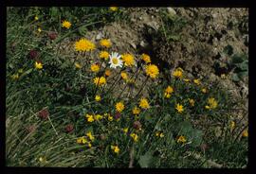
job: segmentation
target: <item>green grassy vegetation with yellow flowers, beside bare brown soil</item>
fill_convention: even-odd
[[[225,89],[188,78],[180,67],[166,80],[148,53],[121,52],[111,38],[95,43],[79,35],[73,28],[93,22],[73,23],[76,16],[64,8],[44,17],[31,13],[21,26],[11,10],[7,165],[247,165],[247,127],[227,114],[236,102]],[[113,7],[101,10],[106,19],[121,15]],[[39,29],[48,21],[59,21],[56,33],[48,33],[47,25]],[[69,47],[61,48],[66,41]]]

